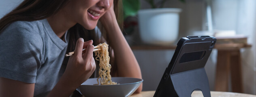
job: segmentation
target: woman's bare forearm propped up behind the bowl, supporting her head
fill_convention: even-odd
[[[137,59],[119,28],[113,9],[109,9],[100,22],[105,27],[109,36],[109,45],[114,50],[115,62],[118,65],[117,76],[142,78]],[[140,93],[141,90],[142,84],[134,93]]]

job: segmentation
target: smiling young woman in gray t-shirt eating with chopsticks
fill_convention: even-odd
[[[105,40],[111,76],[141,78],[118,25],[120,5],[122,0],[24,0],[0,19],[0,97],[68,97],[93,74],[93,44]]]

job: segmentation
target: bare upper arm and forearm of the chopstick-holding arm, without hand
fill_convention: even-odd
[[[30,84],[0,77],[0,97],[33,97],[34,86],[34,83]],[[63,81],[60,81],[48,97],[68,97],[73,91],[75,91],[75,88],[72,89]]]

